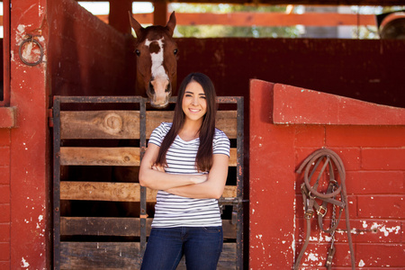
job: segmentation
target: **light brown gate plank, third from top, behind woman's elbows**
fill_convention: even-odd
[[[138,183],[60,182],[60,200],[139,202]],[[147,188],[147,202],[156,202],[157,190]],[[225,198],[236,197],[237,187],[226,185]]]

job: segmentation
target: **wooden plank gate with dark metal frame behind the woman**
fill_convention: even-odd
[[[173,111],[147,111],[146,103],[139,96],[54,97],[56,269],[139,269],[157,191],[128,179],[137,174],[126,172],[122,180],[116,172],[136,172],[152,130],[173,117]],[[218,97],[218,103],[217,127],[231,142],[220,198],[224,248],[218,268],[242,269],[243,97]],[[122,141],[130,146],[122,147]],[[128,205],[136,206],[135,213]],[[184,268],[183,260],[178,269]]]

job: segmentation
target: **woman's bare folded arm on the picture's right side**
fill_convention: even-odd
[[[165,191],[195,199],[219,199],[227,182],[228,165],[229,157],[227,155],[215,154],[213,155],[213,163],[207,181],[200,184],[169,188]]]

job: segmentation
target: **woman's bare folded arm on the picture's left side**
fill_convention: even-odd
[[[153,169],[159,147],[150,143],[139,168],[139,184],[151,189],[166,190],[187,184],[199,184],[207,180],[207,175],[173,175]]]

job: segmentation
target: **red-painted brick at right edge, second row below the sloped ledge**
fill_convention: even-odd
[[[364,148],[362,168],[371,170],[405,170],[405,148]]]

